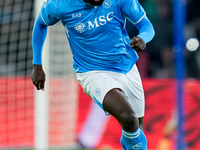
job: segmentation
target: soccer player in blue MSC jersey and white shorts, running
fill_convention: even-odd
[[[129,38],[125,19],[139,34]],[[61,21],[73,54],[78,82],[122,127],[123,150],[147,150],[142,131],[144,92],[136,67],[154,29],[138,0],[47,0],[33,29],[32,81],[44,90],[42,48],[47,27]]]

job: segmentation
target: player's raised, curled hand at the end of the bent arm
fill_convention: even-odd
[[[129,46],[136,51],[143,51],[146,48],[146,43],[142,38],[135,36],[131,39]]]

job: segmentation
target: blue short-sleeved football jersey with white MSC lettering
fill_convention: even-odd
[[[62,22],[75,72],[125,74],[138,60],[125,29],[125,18],[137,24],[146,15],[138,0],[105,0],[101,6],[83,0],[47,0],[40,15],[46,25]]]

